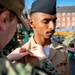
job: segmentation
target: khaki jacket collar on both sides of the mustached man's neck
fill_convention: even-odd
[[[31,41],[31,47],[33,47],[36,44],[36,42],[34,41],[33,36],[30,38],[30,41]],[[63,46],[61,44],[53,41],[53,39],[51,39],[50,41],[51,41],[51,44],[50,44],[50,55],[49,55],[49,58],[53,59],[53,57],[55,56],[57,51],[59,49],[62,49]]]

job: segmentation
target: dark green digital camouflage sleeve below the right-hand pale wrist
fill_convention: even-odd
[[[57,71],[55,70],[55,67],[53,66],[52,62],[45,58],[40,61],[40,67],[44,70],[46,70],[48,73],[53,75],[58,75]]]

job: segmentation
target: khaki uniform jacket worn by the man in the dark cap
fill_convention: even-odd
[[[52,61],[58,74],[71,75],[67,51],[59,43],[56,43],[53,40],[51,40],[51,43],[52,44],[50,45],[49,60]],[[35,43],[33,36],[32,36],[30,38],[30,40],[22,46],[22,48],[26,48],[27,50],[30,50],[31,47],[34,46],[35,44],[36,43]],[[35,57],[30,57],[30,56],[25,56],[22,59],[18,60],[18,62],[21,62],[23,64],[30,63],[32,66],[35,66],[35,65],[40,66],[38,59]]]

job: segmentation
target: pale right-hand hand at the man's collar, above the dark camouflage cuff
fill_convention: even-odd
[[[39,44],[36,44],[35,46],[33,46],[30,52],[32,52],[34,56],[36,56],[39,60],[47,58],[44,53],[43,47]]]

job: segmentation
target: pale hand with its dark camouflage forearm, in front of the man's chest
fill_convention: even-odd
[[[36,45],[30,50],[34,56],[36,56],[39,59],[40,62],[40,68],[47,71],[50,74],[58,75],[57,71],[55,70],[54,65],[52,62],[46,57],[42,46]]]

